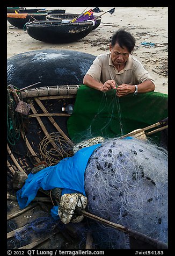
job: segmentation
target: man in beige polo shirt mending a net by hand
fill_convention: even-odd
[[[116,31],[111,39],[110,53],[97,56],[83,84],[103,92],[116,89],[118,97],[154,91],[154,80],[132,55],[134,48],[132,34],[123,29]]]

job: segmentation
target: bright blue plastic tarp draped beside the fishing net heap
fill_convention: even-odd
[[[62,194],[81,193],[84,196],[84,172],[93,151],[101,144],[84,147],[73,157],[61,160],[55,166],[49,166],[38,173],[28,175],[24,186],[17,191],[17,200],[21,209],[25,208],[37,195],[38,189],[50,190],[63,188]],[[55,215],[57,207],[51,211]]]

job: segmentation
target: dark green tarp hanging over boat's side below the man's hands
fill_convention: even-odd
[[[77,91],[74,112],[68,119],[69,136],[75,143],[97,136],[120,137],[168,117],[167,101],[168,95],[162,93],[119,98],[115,90],[102,93],[83,84]],[[155,134],[158,138],[160,132]]]

